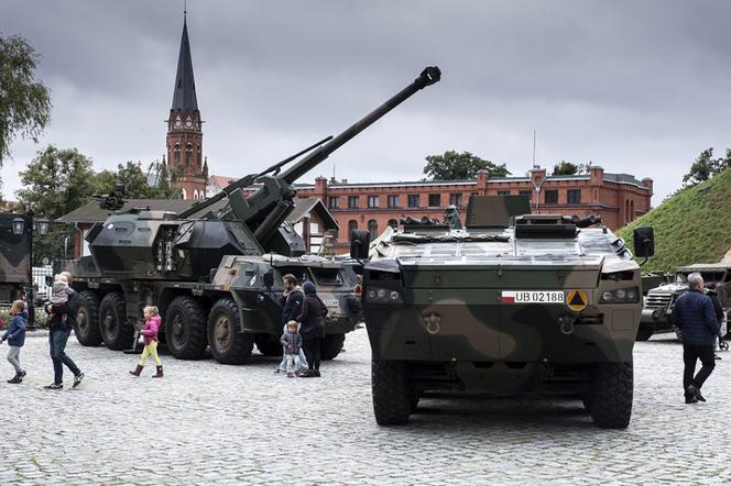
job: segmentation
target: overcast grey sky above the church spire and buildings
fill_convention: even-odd
[[[470,151],[524,175],[533,157],[592,161],[680,186],[700,151],[731,147],[731,2],[188,0],[210,173],[243,176],[337,134],[427,65],[441,82],[337,151],[316,176],[417,180],[424,157]],[[182,0],[0,0],[51,88],[39,145],[17,142],[6,197],[47,143],[95,168],[165,150]],[[334,167],[335,166],[335,167]]]

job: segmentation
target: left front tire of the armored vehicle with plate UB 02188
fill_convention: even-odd
[[[379,426],[403,426],[408,422],[412,394],[408,368],[396,361],[371,360],[373,413]]]

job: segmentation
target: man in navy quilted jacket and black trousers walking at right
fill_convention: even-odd
[[[698,272],[688,275],[688,291],[678,297],[672,319],[683,332],[683,389],[686,404],[706,401],[700,388],[716,367],[713,345],[720,325],[710,297],[703,294],[703,277]],[[702,367],[694,377],[697,360],[700,360]]]

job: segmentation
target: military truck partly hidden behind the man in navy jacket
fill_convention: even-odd
[[[670,323],[670,314],[677,298],[688,290],[688,275],[694,272],[699,272],[707,285],[714,284],[721,306],[725,311],[731,309],[731,264],[698,263],[678,267],[672,283],[647,291],[637,329],[637,341],[647,341],[653,334],[661,332],[676,332]]]

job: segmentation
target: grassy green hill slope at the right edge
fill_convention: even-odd
[[[731,168],[683,189],[619,230],[630,247],[636,227],[653,227],[655,232],[655,256],[643,265],[643,272],[719,262],[731,247]]]

